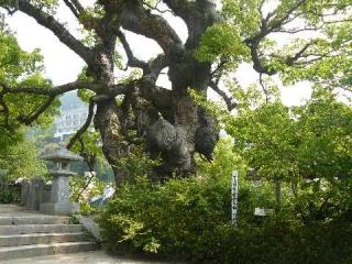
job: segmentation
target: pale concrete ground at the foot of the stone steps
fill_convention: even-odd
[[[68,255],[52,255],[11,261],[0,261],[0,264],[166,264],[162,262],[133,261],[107,255],[103,251],[84,252]]]

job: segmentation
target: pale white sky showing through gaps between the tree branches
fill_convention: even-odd
[[[61,22],[65,22],[69,26],[73,34],[79,35],[79,26],[66,7],[61,7],[57,15]],[[187,28],[185,23],[169,13],[165,13],[165,16],[182,40],[186,41]],[[33,19],[20,12],[9,16],[7,22],[11,30],[16,33],[16,37],[23,50],[33,51],[36,47],[41,50],[44,56],[45,74],[53,80],[54,85],[76,80],[78,73],[84,66],[84,62],[62,44],[51,31],[38,25]],[[135,55],[144,61],[155,57],[162,52],[154,41],[133,33],[129,33],[127,36]],[[258,77],[251,65],[242,65],[235,73],[235,76],[243,87],[248,87],[256,81]],[[169,87],[166,75],[160,78],[158,85]],[[310,97],[310,92],[311,89],[307,82],[298,84],[295,87],[282,88],[283,101],[287,106],[300,105],[305,99]]]

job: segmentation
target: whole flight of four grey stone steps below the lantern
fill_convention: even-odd
[[[69,217],[0,213],[0,262],[20,257],[68,254],[98,249]]]

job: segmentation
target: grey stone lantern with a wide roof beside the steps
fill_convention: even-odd
[[[46,215],[72,213],[69,176],[74,176],[75,173],[70,172],[70,163],[82,161],[82,158],[63,145],[43,155],[42,158],[53,162],[54,166],[50,170],[53,176],[51,202],[42,204],[40,211]]]

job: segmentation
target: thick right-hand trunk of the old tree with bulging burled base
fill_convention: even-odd
[[[161,151],[164,164],[161,173],[191,174],[195,172],[196,152],[212,158],[219,131],[216,122],[189,97],[188,88],[206,95],[211,77],[211,64],[195,59],[201,36],[216,21],[216,7],[210,1],[197,2],[187,21],[189,37],[183,48],[174,47],[170,54],[168,77],[172,81],[174,114],[158,121],[150,130],[148,143]],[[167,123],[166,123],[167,122]],[[164,135],[164,139],[163,139]],[[156,151],[157,153],[157,151]]]

